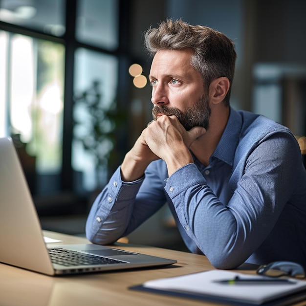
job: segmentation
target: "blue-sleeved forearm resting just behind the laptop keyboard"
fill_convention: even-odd
[[[151,163],[146,175],[130,183],[122,181],[120,167],[116,170],[91,207],[86,223],[88,240],[112,243],[129,235],[165,204],[160,175],[167,177],[166,169],[156,167],[156,163]]]

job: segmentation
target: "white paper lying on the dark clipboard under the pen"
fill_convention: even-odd
[[[144,283],[144,287],[160,290],[178,290],[187,293],[200,293],[216,297],[230,298],[252,304],[280,298],[306,288],[306,281],[292,279],[295,284],[219,284],[220,280],[232,280],[236,276],[243,279],[264,278],[258,275],[246,275],[227,270],[211,270]]]

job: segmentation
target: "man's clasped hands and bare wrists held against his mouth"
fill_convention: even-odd
[[[176,116],[158,116],[142,131],[127,153],[121,165],[122,179],[136,180],[153,160],[159,158],[166,162],[170,176],[178,168],[193,163],[189,148],[204,133],[205,129],[201,127],[186,131]]]

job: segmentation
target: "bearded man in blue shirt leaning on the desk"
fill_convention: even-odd
[[[306,266],[306,172],[292,133],[229,106],[236,52],[224,34],[167,20],[145,35],[153,121],[87,219],[109,244],[167,201],[190,251],[216,268]]]

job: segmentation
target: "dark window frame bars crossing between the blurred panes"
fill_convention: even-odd
[[[110,54],[118,59],[118,87],[116,100],[118,106],[128,108],[123,101],[127,101],[130,95],[128,80],[123,75],[127,75],[128,67],[132,62],[132,56],[129,49],[130,38],[130,8],[131,0],[118,0],[118,48],[108,50],[102,47],[85,44],[76,40],[76,14],[77,0],[66,0],[66,31],[61,37],[45,34],[38,30],[30,29],[16,24],[0,21],[0,30],[29,36],[36,39],[42,39],[65,46],[65,68],[64,68],[64,110],[63,110],[63,138],[62,138],[62,167],[60,191],[73,191],[74,171],[72,169],[72,140],[73,140],[73,94],[74,94],[74,54],[76,49],[85,48],[99,53]]]

